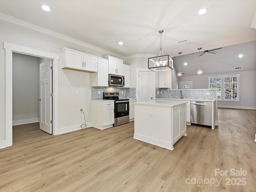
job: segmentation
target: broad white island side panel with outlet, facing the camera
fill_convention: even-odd
[[[172,150],[171,107],[135,104],[134,139]]]

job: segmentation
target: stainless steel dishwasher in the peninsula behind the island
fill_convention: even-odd
[[[212,127],[212,102],[191,101],[190,118],[191,124]]]

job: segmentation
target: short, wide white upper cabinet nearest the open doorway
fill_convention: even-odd
[[[61,51],[62,66],[86,72],[98,71],[98,57],[80,51],[63,48]]]

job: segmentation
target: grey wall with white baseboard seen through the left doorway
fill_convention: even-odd
[[[12,61],[13,125],[38,122],[39,58],[14,53]]]

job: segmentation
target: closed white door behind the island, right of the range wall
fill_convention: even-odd
[[[153,73],[154,72],[139,72],[139,101],[149,101],[154,99]]]

